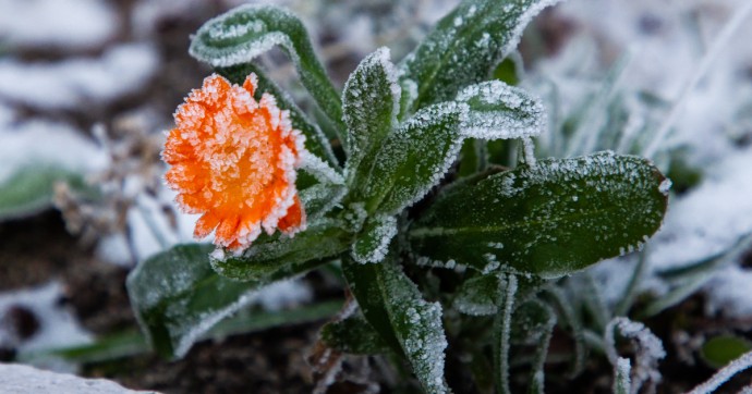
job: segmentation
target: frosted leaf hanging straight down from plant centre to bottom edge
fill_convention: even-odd
[[[423,300],[392,258],[378,264],[345,258],[342,272],[368,323],[391,348],[405,356],[423,390],[448,393],[444,380],[447,340],[440,305]]]

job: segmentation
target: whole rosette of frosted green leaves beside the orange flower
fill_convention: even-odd
[[[639,248],[667,205],[667,181],[639,157],[485,160],[488,144],[529,146],[544,128],[536,98],[489,76],[553,2],[462,1],[401,62],[386,48],[366,57],[341,93],[292,13],[244,5],[207,22],[191,54],[234,83],[256,73],[257,93],[306,135],[308,229],[262,236],[238,257],[181,245],[142,262],[128,284],[151,345],[181,357],[264,286],[336,261],[359,311],[327,324],[324,343],[402,359],[427,393],[450,391],[445,364],[458,352],[472,354],[458,362],[475,389],[507,392],[510,347],[535,343],[530,384],[542,391],[556,318],[538,290]],[[253,63],[277,46],[328,121],[314,123]]]

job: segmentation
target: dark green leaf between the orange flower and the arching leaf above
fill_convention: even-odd
[[[325,160],[329,165],[338,168],[337,158],[331,151],[331,145],[328,139],[336,139],[336,135],[325,136],[320,127],[311,122],[308,116],[301,110],[292,100],[290,95],[282,90],[277,84],[269,79],[266,73],[254,63],[236,64],[228,67],[217,67],[217,73],[230,81],[233,84],[242,85],[245,77],[251,73],[256,74],[258,86],[256,87],[255,98],[262,99],[265,93],[270,94],[277,101],[277,107],[287,110],[290,113],[290,122],[292,127],[300,130],[305,135],[305,149],[318,158]],[[327,139],[328,138],[328,139]]]

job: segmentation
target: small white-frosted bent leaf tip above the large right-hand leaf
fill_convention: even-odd
[[[462,135],[480,139],[531,137],[546,127],[546,111],[537,98],[500,81],[462,89],[456,98],[470,107]]]

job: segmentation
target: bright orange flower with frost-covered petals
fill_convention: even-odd
[[[294,234],[305,227],[295,189],[305,137],[293,130],[274,96],[253,98],[257,79],[243,86],[214,74],[178,107],[162,160],[167,184],[187,213],[203,213],[194,236],[216,229],[215,244],[246,248],[262,232]]]

